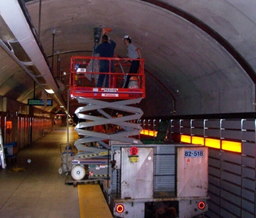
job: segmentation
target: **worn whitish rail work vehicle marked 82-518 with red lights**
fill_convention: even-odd
[[[112,145],[107,200],[114,217],[192,218],[208,210],[208,148]]]

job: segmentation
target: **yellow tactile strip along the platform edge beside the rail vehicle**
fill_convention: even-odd
[[[113,218],[98,184],[78,185],[80,218]]]

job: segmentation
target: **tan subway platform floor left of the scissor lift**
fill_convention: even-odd
[[[69,143],[77,138],[69,127]],[[67,127],[21,149],[16,162],[6,159],[5,169],[0,166],[0,218],[80,218],[78,189],[58,173],[62,143],[67,144]]]

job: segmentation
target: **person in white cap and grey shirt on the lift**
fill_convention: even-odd
[[[127,57],[133,58],[133,59],[141,59],[141,51],[139,48],[137,48],[135,45],[132,44],[132,39],[130,36],[126,35],[123,38],[124,45],[127,46]],[[127,62],[128,60],[125,60],[124,62]],[[129,73],[137,73],[138,69],[140,67],[140,60],[132,60],[132,64],[129,70]],[[130,75],[127,75],[124,88],[128,88]]]

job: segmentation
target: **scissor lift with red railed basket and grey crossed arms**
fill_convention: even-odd
[[[109,72],[99,72],[101,60],[109,62]],[[108,165],[107,156],[111,146],[106,141],[142,144],[139,139],[132,137],[139,135],[142,127],[129,121],[140,119],[143,111],[129,105],[140,103],[145,98],[145,60],[136,59],[140,60],[138,72],[128,74],[132,60],[135,59],[97,56],[71,57],[70,96],[86,105],[75,111],[78,118],[86,120],[86,122],[78,123],[75,127],[80,135],[75,142],[79,153],[72,162],[71,175],[75,180],[84,178],[85,165],[102,165],[104,163]],[[105,75],[105,80],[107,76],[109,78],[108,84],[104,81],[103,87],[97,87],[100,75]],[[128,78],[130,78],[128,88],[124,88]],[[91,112],[94,110],[99,115],[92,115],[95,114]],[[117,112],[113,115],[113,111]],[[117,127],[118,131],[105,133],[93,131],[94,126],[106,124]],[[95,146],[95,144],[99,146]],[[93,177],[93,173],[90,172],[89,176]]]

